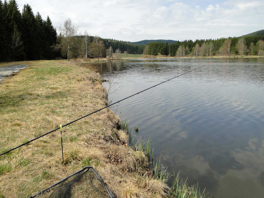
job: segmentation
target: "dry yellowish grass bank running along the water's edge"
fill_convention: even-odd
[[[30,66],[0,83],[1,153],[108,103],[99,74],[78,66],[82,62],[0,67],[14,64]],[[125,145],[128,137],[116,129],[118,122],[104,109],[62,128],[64,163],[60,131],[1,156],[0,197],[31,196],[86,165],[94,166],[118,197],[164,196],[166,185],[147,174],[144,153]]]

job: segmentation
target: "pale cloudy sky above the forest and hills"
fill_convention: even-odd
[[[264,0],[17,0],[50,17],[59,32],[70,18],[78,34],[123,41],[196,40],[241,36],[264,29]]]

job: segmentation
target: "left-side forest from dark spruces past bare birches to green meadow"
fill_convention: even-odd
[[[144,45],[102,39],[87,33],[77,35],[77,28],[71,21],[68,19],[65,22],[68,24],[56,30],[49,16],[43,20],[39,12],[34,15],[29,4],[24,5],[20,12],[16,0],[0,0],[0,61],[50,60],[68,58],[68,54],[70,58],[83,58],[86,48],[88,57],[106,57],[110,46],[110,52],[143,53]],[[74,28],[70,37],[65,32],[65,25]],[[57,31],[60,33],[57,34]]]

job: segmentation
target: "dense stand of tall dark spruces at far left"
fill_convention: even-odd
[[[18,10],[15,0],[0,0],[0,61],[53,59],[57,32],[50,18],[34,15],[30,5]]]

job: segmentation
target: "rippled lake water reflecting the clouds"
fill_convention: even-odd
[[[117,101],[209,62],[113,111],[138,126],[136,138],[152,140],[169,171],[212,197],[263,197],[263,58],[119,60],[99,71],[114,77],[109,101]]]

